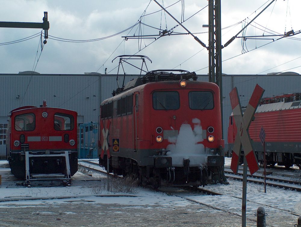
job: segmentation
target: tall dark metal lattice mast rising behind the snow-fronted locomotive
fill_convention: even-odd
[[[209,0],[209,82],[219,86],[222,137],[223,136],[223,94],[222,94],[222,35],[221,35],[221,0]]]

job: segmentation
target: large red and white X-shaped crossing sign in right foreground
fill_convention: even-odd
[[[250,98],[244,115],[241,111],[237,88],[235,87],[230,92],[231,107],[233,110],[235,124],[237,126],[237,134],[235,136],[231,159],[231,169],[234,173],[237,173],[238,170],[238,163],[240,159],[240,151],[242,146],[244,147],[244,155],[246,156],[250,173],[253,174],[259,169],[258,160],[252,148],[248,129],[264,91],[264,89],[262,89],[258,84],[256,84],[256,87],[253,91],[253,94]]]

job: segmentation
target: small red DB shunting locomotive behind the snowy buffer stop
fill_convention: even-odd
[[[43,105],[11,111],[7,155],[11,173],[19,179],[62,179],[77,172],[77,113]]]

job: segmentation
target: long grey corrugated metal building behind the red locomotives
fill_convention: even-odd
[[[125,83],[139,75],[126,75]],[[48,107],[75,110],[78,124],[98,122],[102,100],[111,97],[117,88],[117,75],[100,73],[39,74],[26,71],[16,74],[0,74],[0,156],[6,155],[6,129],[8,115],[17,107],[39,106],[45,99]],[[208,81],[207,75],[198,80]],[[123,75],[118,77],[122,86]],[[231,114],[230,91],[237,87],[242,106],[246,106],[256,84],[265,93],[263,97],[301,92],[301,76],[298,73],[271,73],[267,75],[225,75],[222,78],[223,135],[227,144],[228,119]],[[227,150],[227,146],[225,146]]]

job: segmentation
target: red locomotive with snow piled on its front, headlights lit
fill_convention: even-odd
[[[175,73],[178,72],[178,73]],[[223,182],[219,87],[194,72],[155,70],[101,103],[99,163],[142,184]]]

